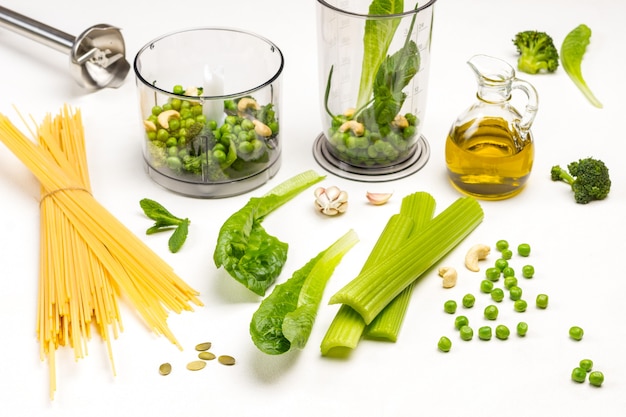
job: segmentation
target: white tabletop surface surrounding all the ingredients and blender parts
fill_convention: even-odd
[[[417,286],[396,344],[363,341],[346,360],[322,358],[319,343],[337,306],[322,305],[313,334],[303,351],[266,356],[248,336],[258,299],[217,271],[211,256],[224,219],[250,196],[260,195],[303,169],[320,168],[311,147],[320,131],[316,68],[316,2],[187,1],[73,2],[70,0],[5,1],[5,7],[79,34],[96,23],[123,29],[129,59],[148,40],[165,32],[200,25],[232,26],[260,33],[285,54],[281,120],[283,166],[271,183],[247,195],[224,200],[190,199],[155,185],[143,172],[138,110],[131,73],[117,90],[85,94],[67,73],[67,61],[56,51],[0,30],[0,111],[18,122],[12,107],[41,120],[63,103],[80,107],[87,131],[90,172],[98,200],[177,272],[201,292],[205,307],[173,315],[170,325],[186,348],[178,351],[154,336],[124,305],[125,330],[114,341],[117,375],[110,370],[98,337],[87,358],[74,362],[71,350],[57,354],[58,390],[48,398],[48,364],[40,362],[35,337],[38,268],[38,185],[4,147],[0,147],[0,404],[12,416],[506,416],[605,415],[623,413],[626,400],[626,327],[622,325],[626,281],[621,276],[625,247],[626,164],[623,137],[626,84],[623,54],[626,3],[614,0],[502,1],[441,0],[436,4],[429,107],[424,134],[431,159],[419,173],[392,183],[365,184],[328,175],[323,184],[349,191],[349,211],[322,218],[305,192],[265,221],[267,230],[290,244],[280,280],[302,266],[340,234],[354,228],[361,242],[344,259],[328,284],[327,299],[360,269],[387,218],[401,197],[428,191],[438,210],[458,197],[448,184],[443,159],[448,127],[474,97],[473,75],[465,64],[476,53],[515,62],[511,38],[520,30],[552,34],[560,45],[580,23],[592,30],[583,73],[604,109],[593,108],[559,69],[554,75],[521,77],[539,92],[533,126],[536,162],[526,190],[501,202],[482,203],[485,220],[445,260],[459,267],[459,284],[441,288],[432,272]],[[603,159],[611,169],[613,188],[604,202],[577,205],[566,186],[549,178],[553,164],[586,156]],[[365,192],[395,191],[385,206],[366,203]],[[192,220],[189,240],[175,255],[167,252],[167,235],[145,236],[149,221],[139,200],[150,197]],[[290,221],[288,221],[290,219]],[[298,227],[294,227],[297,225]],[[498,239],[531,243],[529,262],[537,273],[524,281],[530,307],[514,313],[501,307],[501,322],[511,328],[520,319],[529,334],[508,341],[462,342],[452,329],[453,317],[443,302],[478,293],[479,275],[461,268],[465,250],[476,242]],[[492,260],[495,256],[492,256]],[[518,269],[523,261],[516,259]],[[545,311],[534,307],[534,294],[550,295]],[[476,328],[481,309],[467,311]],[[571,325],[585,338],[569,340]],[[453,350],[436,350],[441,335]],[[184,366],[193,346],[212,341],[213,351],[237,358],[234,367],[210,363],[201,372]],[[601,389],[570,381],[571,369],[584,357],[595,361],[606,381]],[[169,361],[174,371],[158,374]]]

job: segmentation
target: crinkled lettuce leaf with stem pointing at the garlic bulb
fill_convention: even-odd
[[[261,222],[311,185],[325,178],[309,170],[253,197],[222,225],[213,253],[215,266],[258,295],[274,283],[287,260],[288,245],[268,234]]]

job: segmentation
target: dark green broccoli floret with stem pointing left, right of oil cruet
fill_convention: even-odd
[[[572,162],[567,171],[558,165],[550,172],[552,181],[563,181],[574,191],[574,200],[579,204],[587,204],[593,200],[603,200],[611,190],[609,169],[604,162],[585,158]]]

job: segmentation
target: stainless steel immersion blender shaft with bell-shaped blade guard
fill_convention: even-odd
[[[88,89],[117,88],[130,69],[124,38],[111,25],[91,26],[79,36],[72,36],[0,6],[0,27],[69,55],[72,76]]]

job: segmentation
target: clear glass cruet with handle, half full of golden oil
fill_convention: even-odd
[[[478,81],[477,102],[454,122],[445,146],[450,181],[459,191],[484,200],[503,200],[522,191],[534,160],[530,126],[537,92],[498,58],[468,61]],[[513,90],[527,96],[524,114],[510,103]]]

